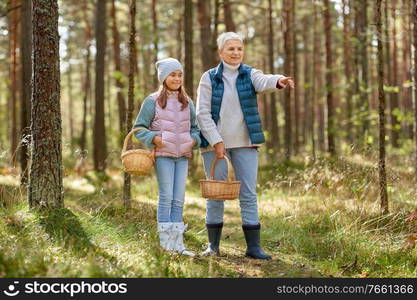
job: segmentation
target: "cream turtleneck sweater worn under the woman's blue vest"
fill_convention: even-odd
[[[217,125],[211,118],[211,81],[207,72],[203,74],[197,89],[197,120],[203,136],[211,146],[224,142],[227,149],[250,147],[252,145],[248,129],[240,107],[236,89],[239,65],[232,66],[223,62],[224,94]],[[252,84],[258,93],[277,90],[276,85],[282,75],[265,75],[252,69]]]

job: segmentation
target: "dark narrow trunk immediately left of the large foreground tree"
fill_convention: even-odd
[[[30,98],[32,96],[32,2],[22,2],[21,13],[21,61],[22,61],[22,97],[20,103],[21,148],[20,168],[21,183],[28,182],[28,149],[30,145]]]

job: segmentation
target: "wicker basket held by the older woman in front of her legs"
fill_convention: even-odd
[[[200,188],[203,198],[213,200],[234,200],[239,197],[240,192],[240,181],[234,181],[230,170],[232,165],[229,159],[224,157],[228,163],[228,175],[227,181],[214,180],[214,170],[217,165],[218,159],[216,158],[211,164],[210,179],[201,179]]]

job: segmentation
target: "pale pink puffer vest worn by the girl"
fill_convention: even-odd
[[[159,92],[150,96],[156,102]],[[191,157],[194,140],[190,135],[190,106],[184,110],[181,110],[181,106],[178,92],[169,92],[165,109],[158,102],[155,103],[155,117],[150,129],[158,131],[162,137],[162,147],[156,149],[156,156]]]

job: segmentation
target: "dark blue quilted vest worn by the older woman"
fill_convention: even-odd
[[[236,79],[236,88],[239,95],[240,107],[242,108],[243,118],[245,119],[248,129],[249,138],[252,144],[262,144],[265,142],[265,136],[262,130],[262,122],[259,116],[258,103],[256,101],[256,91],[251,80],[252,68],[241,64],[239,75]],[[209,70],[211,80],[211,117],[217,124],[220,117],[220,108],[222,105],[224,83],[223,83],[223,63]],[[208,141],[201,134],[201,147],[209,146]]]

